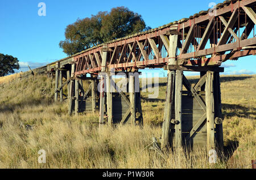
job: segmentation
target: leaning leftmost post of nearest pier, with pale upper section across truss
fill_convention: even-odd
[[[177,29],[172,27],[171,30]],[[176,50],[177,50],[177,38],[178,35],[170,35],[170,46],[169,46],[169,62],[168,65],[176,64]],[[171,116],[172,116],[172,105],[174,101],[174,82],[175,82],[175,71],[168,70],[167,78],[167,92],[166,92],[166,105],[164,106],[164,122],[163,122],[163,134],[161,148],[166,150],[170,147],[170,130],[171,130]]]

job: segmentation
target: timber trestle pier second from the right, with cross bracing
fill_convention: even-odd
[[[109,125],[119,123],[143,125],[139,76],[134,75],[133,72],[122,72],[122,74],[126,77],[122,87],[112,79],[115,75],[113,72],[100,75],[100,125],[106,122]]]

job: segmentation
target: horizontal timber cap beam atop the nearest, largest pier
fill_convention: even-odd
[[[224,72],[224,67],[218,66],[176,66],[167,65],[164,66],[164,70],[182,70],[182,71],[214,71],[214,72]]]

